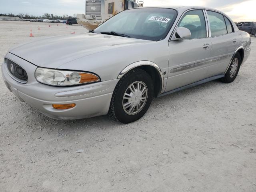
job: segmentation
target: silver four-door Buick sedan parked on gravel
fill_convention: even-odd
[[[215,79],[233,82],[250,44],[250,35],[218,10],[134,8],[84,34],[10,49],[2,76],[21,101],[51,118],[110,114],[129,123],[153,97]]]

